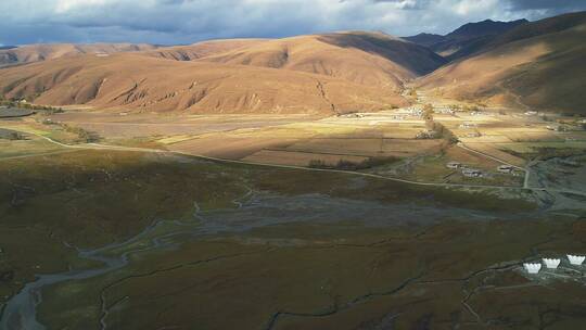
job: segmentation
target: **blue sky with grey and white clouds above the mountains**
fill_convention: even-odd
[[[411,36],[581,10],[586,0],[0,0],[0,46],[179,45],[335,30]]]

